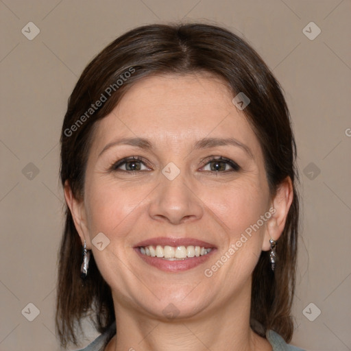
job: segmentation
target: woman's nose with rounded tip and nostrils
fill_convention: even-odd
[[[180,224],[185,221],[197,221],[204,213],[204,204],[195,193],[191,184],[178,175],[173,180],[160,175],[160,184],[156,187],[152,202],[149,204],[149,216],[157,221]]]

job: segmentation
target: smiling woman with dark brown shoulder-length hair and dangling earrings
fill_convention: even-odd
[[[300,350],[295,142],[247,43],[198,23],[131,30],[82,73],[61,141],[62,346],[90,316],[84,350]]]

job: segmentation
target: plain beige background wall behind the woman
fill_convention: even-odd
[[[3,0],[0,10],[1,351],[59,350],[58,140],[77,77],[126,30],[178,19],[215,21],[240,34],[285,89],[304,200],[292,343],[351,350],[350,0]],[[314,40],[302,31],[311,21],[322,30]],[[40,29],[33,40],[21,32],[29,22]],[[315,29],[306,28],[310,36]],[[40,311],[33,322],[29,303]]]

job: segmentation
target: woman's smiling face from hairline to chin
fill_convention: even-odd
[[[147,77],[97,123],[80,234],[117,308],[191,317],[250,300],[274,210],[261,147],[232,98],[215,77]]]

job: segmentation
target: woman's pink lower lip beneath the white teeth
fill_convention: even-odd
[[[198,265],[206,262],[216,249],[213,248],[210,252],[208,252],[208,254],[204,256],[189,257],[185,258],[184,260],[176,261],[169,261],[164,258],[144,255],[140,252],[140,249],[138,247],[134,247],[134,250],[143,259],[144,262],[160,269],[161,271],[187,271],[188,269],[197,267]]]

